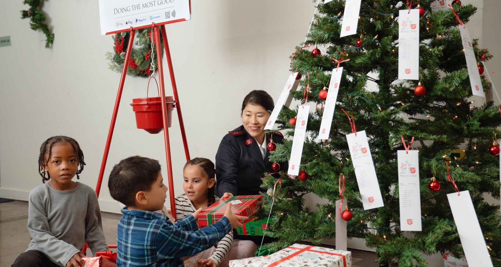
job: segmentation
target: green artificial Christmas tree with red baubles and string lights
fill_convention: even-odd
[[[310,138],[305,140],[300,166],[309,177],[300,181],[283,176],[272,210],[272,215],[280,219],[267,232],[280,240],[263,248],[274,252],[297,240],[319,244],[325,238],[335,237],[335,220],[330,214],[339,208],[332,203],[340,199],[338,177],[343,173],[345,196],[354,214],[348,222],[348,237],[365,238],[368,247],[377,248],[381,264],[398,261],[399,266],[427,266],[425,254],[450,251],[461,256],[463,251],[446,196],[454,192],[446,176],[448,160],[450,175],[459,190],[469,190],[471,194],[494,266],[501,266],[499,205],[484,200],[486,194],[499,198],[499,159],[489,155],[488,148],[493,133],[499,136],[496,127],[501,125],[501,116],[492,102],[475,107],[468,100],[471,89],[455,16],[450,9],[431,13],[431,0],[420,3],[425,15],[420,18],[419,73],[426,93],[418,97],[413,92],[418,81],[397,80],[398,12],[406,9],[405,1],[362,0],[357,34],[340,38],[344,2],[334,0],[318,5],[319,15],[315,16],[305,45],[319,46],[321,55],[313,57],[312,47],[296,47],[291,71],[297,70],[303,78],[300,89],[291,94],[303,104],[304,89],[309,83],[306,105],[312,106],[307,126]],[[453,8],[465,24],[476,11],[471,5],[455,4]],[[360,36],[362,45],[357,47]],[[485,60],[491,58],[486,50],[477,49],[476,40],[473,42],[475,53],[485,54]],[[341,64],[344,70],[329,139],[310,141],[318,135],[322,118],[318,94],[328,87],[337,66],[332,58],[339,58],[345,51],[344,59],[350,61]],[[485,78],[482,84],[487,88]],[[369,90],[370,87],[376,89]],[[362,207],[346,140],[346,134],[352,131],[341,109],[353,113],[357,131],[367,132],[384,207]],[[289,137],[294,135],[289,120],[296,114],[297,108],[284,107],[277,120],[279,129]],[[408,140],[415,137],[411,149],[419,150],[422,231],[403,232],[399,227],[397,150],[404,149],[401,135]],[[291,139],[278,145],[270,161],[289,160]],[[464,150],[464,157],[450,158],[458,149]],[[428,188],[433,176],[441,184],[436,192]],[[269,176],[262,187],[273,188],[275,182],[277,178]],[[316,210],[303,206],[303,197],[309,192],[330,203],[318,204]],[[272,197],[265,198],[268,216]]]

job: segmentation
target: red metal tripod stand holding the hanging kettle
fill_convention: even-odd
[[[174,78],[174,70],[172,68],[172,60],[170,58],[170,50],[169,50],[169,44],[167,42],[167,34],[165,33],[165,26],[164,25],[155,26],[155,23],[153,23],[152,27],[153,27],[153,34],[154,34],[156,51],[157,51],[157,55],[159,55],[157,62],[158,62],[158,77],[159,77],[159,83],[160,83],[160,99],[161,100],[165,99],[165,86],[164,86],[164,79],[163,79],[163,67],[162,67],[162,57],[161,57],[162,54],[160,53],[160,51],[161,51],[160,31],[161,31],[163,44],[165,47],[165,55],[167,57],[167,65],[168,65],[169,73],[170,73],[170,80],[172,83],[172,91],[174,94],[174,105],[177,109],[177,114],[178,114],[178,118],[179,118],[179,127],[181,128],[181,136],[182,136],[183,145],[184,145],[184,152],[186,154],[186,161],[188,161],[190,159],[189,151],[188,151],[188,144],[186,141],[186,133],[184,131],[183,117],[181,114],[181,106],[179,104],[179,96],[177,94],[176,80]],[[142,27],[142,28],[146,28],[146,27]],[[140,28],[137,28],[137,29],[140,29]],[[99,177],[98,177],[97,185],[96,185],[96,194],[98,197],[99,197],[99,191],[101,189],[101,184],[103,182],[103,175],[104,175],[104,169],[106,167],[106,161],[108,160],[108,152],[110,151],[110,144],[111,144],[111,138],[113,136],[113,130],[115,129],[115,122],[117,119],[118,107],[120,105],[120,99],[122,97],[125,76],[127,74],[127,67],[128,67],[127,63],[129,62],[129,59],[130,59],[130,54],[132,51],[132,45],[134,43],[135,33],[136,33],[136,29],[133,29],[131,27],[129,43],[127,46],[127,52],[125,54],[124,67],[122,70],[122,76],[120,78],[120,84],[118,86],[117,98],[115,100],[115,107],[113,108],[113,116],[111,118],[110,129],[108,131],[108,138],[106,140],[106,147],[104,149],[103,161],[101,162],[101,170],[99,171]],[[168,122],[167,122],[167,107],[165,104],[161,105],[161,106],[162,106],[162,117],[163,117],[163,133],[164,133],[164,141],[165,141],[165,155],[166,155],[166,160],[167,160],[167,178],[168,178],[168,185],[169,185],[170,208],[172,210],[172,215],[175,218],[176,217],[176,210],[175,210],[175,202],[174,202],[174,182],[172,179],[172,161],[171,161],[171,156],[170,156],[170,141],[169,141],[169,127],[168,127]],[[110,248],[117,247],[116,244],[109,244],[108,246]],[[87,248],[87,245],[84,246],[84,248],[83,248],[84,253],[85,253],[86,248]]]

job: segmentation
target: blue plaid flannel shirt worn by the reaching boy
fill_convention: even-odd
[[[175,224],[163,214],[122,209],[117,229],[117,267],[184,266],[183,256],[201,252],[231,230],[228,218],[198,229],[192,215]]]

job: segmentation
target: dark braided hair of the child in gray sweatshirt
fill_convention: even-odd
[[[45,183],[45,181],[48,181],[51,179],[51,174],[48,172],[45,172],[44,168],[49,164],[49,160],[51,159],[52,156],[52,146],[55,144],[59,143],[70,143],[71,146],[73,146],[73,151],[75,151],[75,156],[77,156],[77,162],[80,165],[80,170],[77,168],[77,179],[80,179],[78,176],[80,173],[82,173],[82,170],[84,169],[84,152],[82,152],[82,149],[80,149],[80,145],[78,142],[68,136],[53,136],[49,137],[45,142],[42,143],[42,146],[40,146],[40,155],[38,156],[38,172],[40,173],[40,176],[42,176],[42,183]],[[49,154],[47,157],[47,160],[45,160],[45,155]],[[45,177],[47,174],[47,177]]]

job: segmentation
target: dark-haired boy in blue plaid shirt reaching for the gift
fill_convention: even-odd
[[[164,206],[167,186],[163,184],[157,160],[133,156],[113,167],[108,180],[111,196],[126,205],[117,230],[117,267],[184,266],[182,257],[201,252],[242,226],[247,219],[231,213],[228,203],[225,217],[198,229],[197,215],[172,224],[165,215],[155,212]]]

